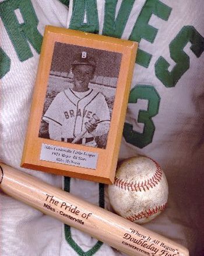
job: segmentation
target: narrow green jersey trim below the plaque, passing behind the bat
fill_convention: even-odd
[[[64,179],[64,190],[66,192],[70,192],[70,182],[71,178],[65,177]],[[104,199],[104,184],[99,184],[99,206],[104,208],[105,205],[105,199]],[[97,241],[97,243],[89,250],[89,251],[83,251],[82,248],[73,240],[72,233],[71,233],[71,227],[65,224],[65,239],[68,242],[68,244],[75,250],[80,256],[92,256],[95,254],[103,243],[101,241]]]

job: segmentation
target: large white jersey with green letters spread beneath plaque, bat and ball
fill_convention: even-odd
[[[80,8],[83,11],[85,2],[88,3],[86,12],[80,16]],[[39,45],[45,25],[106,33],[109,36],[131,40],[139,39],[135,34],[143,32],[139,49],[151,54],[152,57],[149,63],[144,62],[144,57],[140,57],[135,65],[129,100],[133,99],[132,101],[135,102],[130,102],[128,105],[119,160],[142,154],[159,162],[169,185],[168,207],[159,217],[144,226],[185,245],[191,255],[202,256],[204,254],[203,1],[138,0],[129,1],[127,5],[127,1],[118,0],[115,5],[115,17],[118,17],[115,26],[106,20],[111,20],[108,15],[112,15],[111,8],[116,1],[107,1],[108,3],[110,6],[105,9],[107,8],[105,1],[100,0],[80,1],[80,4],[79,1],[74,3],[69,1],[69,8],[68,1],[0,1],[0,160],[54,186],[63,187],[69,183],[71,193],[99,204],[99,184],[79,179],[67,181],[57,175],[19,167],[40,47],[34,47],[30,40],[29,48],[24,48],[22,53],[16,50],[16,45],[22,41],[11,40],[8,31],[10,28],[15,29],[15,26],[14,20],[8,19],[8,13],[13,13],[9,8],[19,8],[20,12],[24,13],[22,16],[18,11],[15,12],[20,24],[25,22],[31,26],[37,19],[38,33],[36,30],[31,30],[31,33],[37,34],[33,41],[38,40]],[[122,11],[119,9],[121,4],[124,4]],[[132,9],[126,11],[131,4]],[[148,20],[150,10],[154,12]],[[136,20],[139,30],[131,36]],[[148,30],[145,22],[149,22],[149,25],[155,27],[157,31],[153,33],[150,28]],[[149,33],[146,33],[147,30]],[[19,31],[23,33],[23,30]],[[164,72],[161,57],[170,64],[168,71],[171,75]],[[152,103],[154,105],[151,105]],[[150,117],[153,126],[150,126],[149,121],[144,124],[138,119],[141,110],[149,113],[149,108],[155,112],[154,116]],[[128,124],[132,124],[134,131],[132,137],[129,136]],[[145,126],[147,132],[143,134]],[[106,189],[105,186],[105,207],[111,210]],[[71,237],[82,251],[79,248],[76,250],[72,247],[71,240],[65,236],[64,224],[17,202],[2,192],[0,200],[2,256],[64,256],[79,253],[86,255],[82,251],[92,250],[97,243],[90,236],[71,228]],[[90,251],[89,255],[93,253],[121,255],[105,244],[100,244],[95,251]]]

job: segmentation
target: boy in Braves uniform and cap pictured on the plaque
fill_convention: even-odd
[[[95,70],[96,61],[86,51],[73,59],[73,87],[59,92],[43,116],[50,139],[72,143],[84,132],[76,143],[96,147],[94,138],[108,133],[110,112],[105,97],[89,88]]]

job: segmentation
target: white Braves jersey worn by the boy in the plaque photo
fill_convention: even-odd
[[[92,133],[87,132],[83,138],[93,138],[94,141],[94,137],[108,133],[110,126],[110,112],[105,97],[94,89],[75,92],[69,88],[59,92],[43,120],[49,123],[50,139],[70,142],[69,139],[77,137],[86,129],[85,123],[92,120],[93,115],[99,117],[100,121],[96,129]]]

